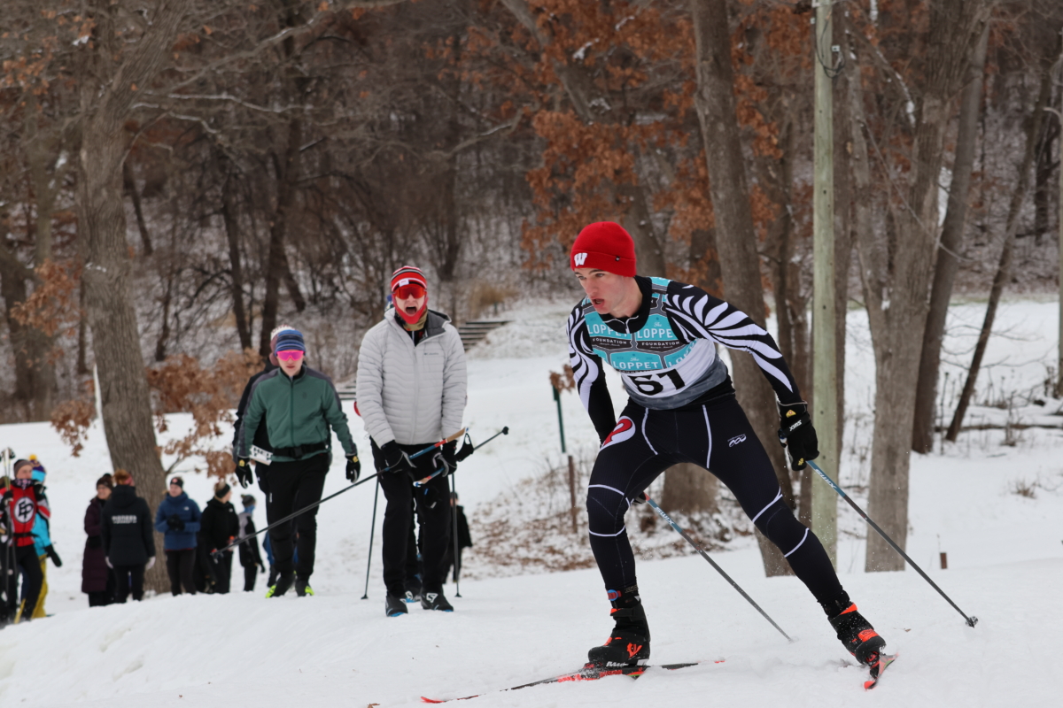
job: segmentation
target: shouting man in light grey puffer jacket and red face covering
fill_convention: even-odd
[[[369,432],[384,512],[385,612],[406,614],[406,559],[410,532],[410,500],[421,521],[424,576],[421,607],[453,611],[443,597],[443,559],[451,540],[450,488],[446,474],[468,456],[457,443],[434,454],[410,460],[418,450],[456,433],[466,407],[466,359],[461,336],[445,314],[428,309],[424,274],[404,265],[391,275],[394,307],[366,332],[358,353],[358,412]],[[423,487],[414,481],[437,469],[443,472]]]

